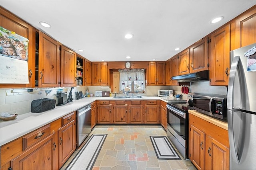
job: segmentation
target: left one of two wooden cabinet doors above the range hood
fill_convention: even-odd
[[[178,70],[179,75],[189,73],[189,49],[178,54]]]

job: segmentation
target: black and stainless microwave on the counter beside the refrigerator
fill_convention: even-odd
[[[211,117],[227,120],[227,96],[194,94],[193,109]]]

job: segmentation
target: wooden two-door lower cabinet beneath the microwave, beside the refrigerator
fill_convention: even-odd
[[[189,114],[189,158],[198,170],[228,170],[228,131]]]

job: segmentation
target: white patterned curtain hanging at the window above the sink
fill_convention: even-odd
[[[144,92],[145,86],[145,70],[119,70],[120,82],[119,89],[123,92],[125,87],[131,88],[132,81],[134,82],[134,92]],[[133,90],[131,90],[133,91]]]

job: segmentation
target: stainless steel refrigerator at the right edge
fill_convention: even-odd
[[[230,51],[231,68],[227,99],[230,170],[256,170],[254,46],[256,43]]]

